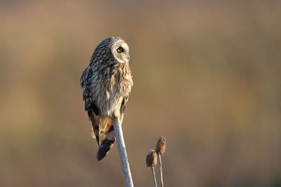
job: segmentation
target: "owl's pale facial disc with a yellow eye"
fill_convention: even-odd
[[[122,40],[115,42],[111,49],[112,55],[120,63],[129,63],[129,46]]]

